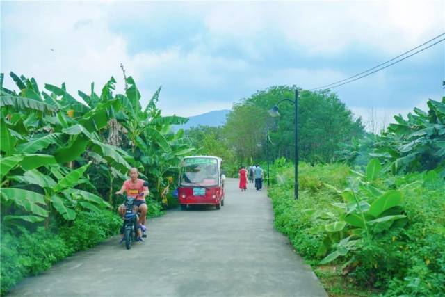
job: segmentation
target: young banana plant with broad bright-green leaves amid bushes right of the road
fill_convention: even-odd
[[[320,264],[332,262],[337,257],[362,248],[365,238],[373,239],[390,228],[403,227],[407,223],[401,211],[401,191],[382,191],[374,185],[381,171],[378,159],[372,159],[366,167],[366,174],[352,172],[349,188],[339,191],[329,186],[341,195],[343,202],[333,203],[338,208],[337,216],[325,216],[329,223],[324,226],[325,239],[318,255],[326,255],[333,245],[336,248]],[[314,214],[314,218],[320,216],[319,213]]]

